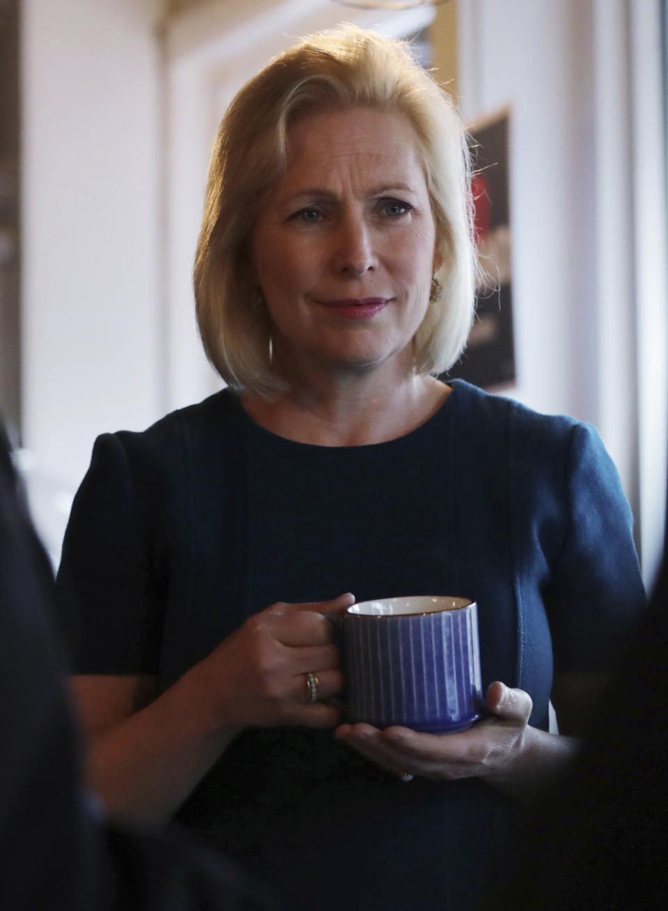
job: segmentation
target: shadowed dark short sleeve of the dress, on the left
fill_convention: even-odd
[[[77,673],[157,673],[164,609],[119,435],[98,437],[72,506],[57,598]]]

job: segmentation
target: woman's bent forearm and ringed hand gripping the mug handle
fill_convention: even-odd
[[[245,727],[334,727],[340,712],[307,704],[305,675],[317,674],[322,699],[340,691],[332,624],[318,611],[353,600],[272,605],[160,695],[148,675],[75,678],[91,784],[108,811],[169,818]]]

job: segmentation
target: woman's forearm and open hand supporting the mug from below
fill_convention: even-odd
[[[592,690],[601,687],[601,676],[569,675],[565,688],[563,681],[556,685],[557,704],[562,711],[568,706],[570,720],[579,719],[577,732],[584,722],[578,705],[592,705]],[[518,800],[540,795],[574,758],[578,741],[569,734],[576,731],[571,728],[566,734],[551,734],[530,727],[529,694],[499,681],[489,686],[487,708],[485,718],[468,731],[453,734],[418,733],[403,727],[379,731],[368,724],[343,724],[336,735],[397,775],[410,773],[435,781],[477,777]],[[558,721],[559,717],[558,713]]]

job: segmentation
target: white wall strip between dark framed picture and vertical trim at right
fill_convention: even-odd
[[[513,394],[541,411],[591,417],[587,384],[573,394],[570,134],[577,112],[568,13],[563,0],[460,2],[459,92],[468,122],[511,107]]]

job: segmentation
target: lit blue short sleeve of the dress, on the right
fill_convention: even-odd
[[[572,428],[566,503],[566,534],[546,593],[555,670],[611,670],[645,595],[631,507],[591,425]]]

